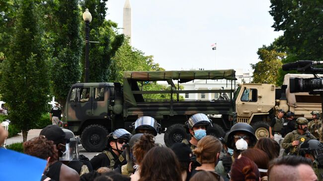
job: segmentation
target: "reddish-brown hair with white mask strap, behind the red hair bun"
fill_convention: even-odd
[[[261,181],[267,181],[269,157],[264,151],[250,148],[242,151],[241,156],[247,157],[253,161],[258,167]]]

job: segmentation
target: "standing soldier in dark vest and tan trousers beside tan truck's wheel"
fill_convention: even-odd
[[[278,144],[281,143],[282,139],[282,129],[283,129],[283,123],[284,123],[284,116],[285,111],[280,109],[278,110],[278,116],[273,118],[271,120],[271,124],[269,126],[269,134],[270,134],[270,138],[274,139],[275,141],[277,141]]]

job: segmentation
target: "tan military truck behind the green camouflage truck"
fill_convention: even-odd
[[[295,118],[305,117],[312,120],[312,111],[322,110],[320,95],[309,93],[290,93],[289,78],[310,78],[309,74],[286,74],[284,85],[276,88],[272,84],[241,84],[237,89],[237,122],[253,126],[257,138],[269,136],[269,124],[278,109],[295,113]]]

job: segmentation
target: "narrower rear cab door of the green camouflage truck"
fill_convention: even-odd
[[[108,116],[108,87],[93,87],[93,116],[104,119]]]

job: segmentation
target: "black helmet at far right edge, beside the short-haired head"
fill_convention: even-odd
[[[300,145],[299,155],[305,156],[306,153],[313,155],[322,155],[323,143],[316,139],[309,139]]]

